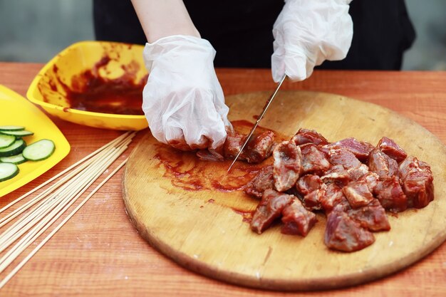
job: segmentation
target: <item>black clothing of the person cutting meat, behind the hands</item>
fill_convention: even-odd
[[[185,0],[202,38],[217,51],[215,67],[271,68],[272,28],[280,0]],[[415,40],[404,0],[353,0],[353,41],[343,61],[317,68],[399,70]],[[93,0],[97,40],[146,42],[130,0]]]

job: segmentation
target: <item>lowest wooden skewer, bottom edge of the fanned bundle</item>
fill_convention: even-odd
[[[81,209],[81,207],[83,206],[83,204],[85,204],[88,199],[90,199],[90,197],[93,196],[93,194],[95,194],[95,192],[98,191],[98,189],[100,189],[100,187],[103,186],[103,184],[105,184],[105,182],[108,181],[108,179],[110,179],[111,177],[113,177],[113,175],[118,172],[118,170],[120,170],[121,167],[123,167],[125,165],[125,162],[127,162],[127,159],[124,160],[118,167],[115,168],[115,170],[113,170],[113,172],[111,172],[108,177],[106,177],[103,182],[101,182],[100,184],[98,184],[98,187],[95,187],[95,189],[93,189],[93,191],[88,194],[87,197],[85,197],[85,199],[83,199],[83,201],[81,202],[81,204],[78,205],[78,207],[76,207],[76,209],[73,210],[73,212],[71,212],[70,214],[68,214],[68,216],[63,219],[63,221],[61,222],[61,224],[58,224],[58,226],[56,226],[55,229],[53,229],[53,231],[51,231],[50,234],[48,234],[48,236],[45,237],[45,239],[43,239],[41,241],[40,244],[38,244],[38,246],[36,246],[36,248],[34,248],[3,280],[0,281],[0,288],[3,288],[4,285],[29,261],[29,259],[31,259],[32,256],[34,256],[34,254],[36,254],[38,252],[39,249],[41,249],[41,247],[46,244],[46,242],[48,240],[51,239],[51,237],[56,234],[56,232],[61,229],[61,227],[66,224],[66,222],[68,222],[69,219],[71,219],[71,217],[73,217],[74,214],[76,214],[76,212],[78,212],[79,209]]]

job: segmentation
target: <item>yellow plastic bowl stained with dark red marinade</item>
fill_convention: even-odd
[[[63,84],[71,87],[71,78],[85,70],[93,69],[104,56],[110,63],[99,68],[104,78],[118,78],[132,65],[135,81],[147,75],[142,49],[144,46],[105,41],[81,41],[74,43],[51,59],[33,79],[26,96],[54,115],[69,122],[114,130],[142,130],[147,127],[144,115],[118,115],[95,113],[70,108]]]

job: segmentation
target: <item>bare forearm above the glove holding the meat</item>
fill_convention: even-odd
[[[132,0],[147,41],[188,35],[200,37],[182,0]]]

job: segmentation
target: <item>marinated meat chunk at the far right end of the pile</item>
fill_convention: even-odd
[[[408,207],[422,208],[434,199],[434,177],[427,163],[407,157],[400,164],[400,180]]]

